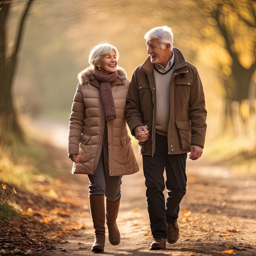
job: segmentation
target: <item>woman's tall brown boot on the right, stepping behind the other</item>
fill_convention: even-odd
[[[108,240],[111,245],[118,245],[121,240],[116,222],[119,205],[120,199],[117,202],[110,202],[106,200],[106,223],[108,226]]]

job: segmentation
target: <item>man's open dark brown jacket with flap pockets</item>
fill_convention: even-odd
[[[175,53],[174,71],[169,85],[170,118],[168,124],[168,154],[190,151],[191,144],[204,147],[207,111],[204,91],[196,68],[184,60],[179,49]],[[143,155],[155,153],[156,85],[154,64],[150,57],[137,67],[130,83],[126,120],[132,135],[137,126],[148,126],[150,137],[140,146]]]

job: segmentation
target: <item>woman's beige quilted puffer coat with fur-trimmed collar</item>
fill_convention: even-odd
[[[88,67],[78,74],[68,134],[68,155],[79,155],[72,173],[93,175],[103,147],[105,114],[100,99],[100,82]],[[107,122],[110,176],[136,173],[139,166],[126,128],[124,108],[130,82],[126,71],[117,67],[117,80],[111,84],[117,118]]]

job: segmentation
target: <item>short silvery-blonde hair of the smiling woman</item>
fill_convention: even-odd
[[[117,50],[117,47],[114,45],[111,45],[107,42],[99,43],[98,45],[94,46],[90,50],[88,63],[93,66],[94,68],[97,67],[99,62],[101,61],[101,58],[105,56],[106,54],[109,54],[114,50],[115,54],[117,55],[117,60],[119,59],[119,52]]]

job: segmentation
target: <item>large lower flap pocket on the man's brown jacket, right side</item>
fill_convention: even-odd
[[[177,132],[180,139],[180,148],[190,150],[191,147],[191,121],[176,121]]]

